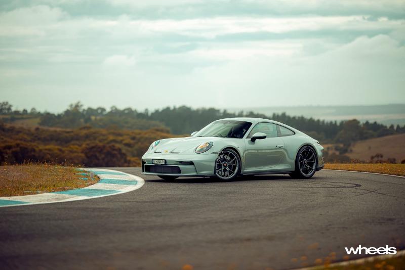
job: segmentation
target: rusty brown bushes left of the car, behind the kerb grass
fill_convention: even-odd
[[[140,166],[158,139],[175,137],[167,129],[120,130],[23,128],[0,123],[0,164],[69,163],[88,167]]]

